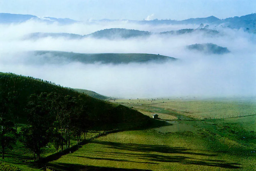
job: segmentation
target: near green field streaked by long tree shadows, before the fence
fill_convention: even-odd
[[[250,132],[255,130],[255,120],[256,116],[245,116],[242,120],[186,121],[113,133],[47,165],[63,171],[255,170],[256,136]]]

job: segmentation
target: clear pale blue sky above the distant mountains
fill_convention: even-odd
[[[85,19],[220,19],[251,14],[256,0],[0,0],[0,12]]]

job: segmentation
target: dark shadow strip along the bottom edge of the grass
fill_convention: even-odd
[[[100,167],[80,164],[67,164],[67,163],[50,163],[47,164],[49,168],[54,171],[151,171],[144,169],[126,169],[126,168],[115,168],[115,167]]]

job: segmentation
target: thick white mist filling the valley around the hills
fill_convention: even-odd
[[[67,26],[46,25],[29,21],[0,25],[0,72],[33,76],[63,86],[92,90],[124,98],[143,97],[226,97],[256,95],[256,44],[252,35],[242,30],[220,30],[221,35],[201,33],[151,35],[147,38],[67,40],[42,38],[22,40],[27,33],[66,32],[88,34],[104,28],[129,28],[144,31],[170,31],[186,26],[150,27],[116,22]],[[173,29],[175,28],[175,29]],[[193,28],[193,27],[190,27]],[[230,53],[207,55],[188,50],[196,43],[214,43],[227,47]],[[33,56],[27,51],[57,50],[76,53],[149,53],[179,58],[177,62],[86,64],[61,58]]]

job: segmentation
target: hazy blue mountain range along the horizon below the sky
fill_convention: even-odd
[[[30,19],[38,20],[38,21],[43,21],[47,23],[53,23],[53,22],[58,22],[60,24],[72,24],[76,22],[81,22],[81,21],[76,21],[73,19],[58,19],[58,18],[53,18],[53,17],[43,17],[39,18],[34,15],[23,15],[23,14],[9,14],[9,13],[0,13],[0,23],[5,23],[5,24],[10,24],[10,23],[21,23],[28,21]],[[110,19],[102,19],[102,20],[88,20],[86,22],[113,22],[113,21],[119,21],[119,20],[110,20]],[[256,23],[256,13],[241,16],[241,17],[231,17],[227,19],[218,19],[214,16],[206,17],[206,18],[191,18],[191,19],[185,19],[181,21],[177,20],[167,20],[167,19],[154,19],[154,20],[142,20],[142,21],[136,21],[136,20],[126,20],[127,22],[131,23],[139,23],[139,24],[151,24],[151,25],[158,25],[158,24],[195,24],[195,25],[200,25],[201,23],[203,24],[208,24],[211,26],[223,26],[223,27],[229,27],[229,28],[248,28],[255,30],[255,23]]]

